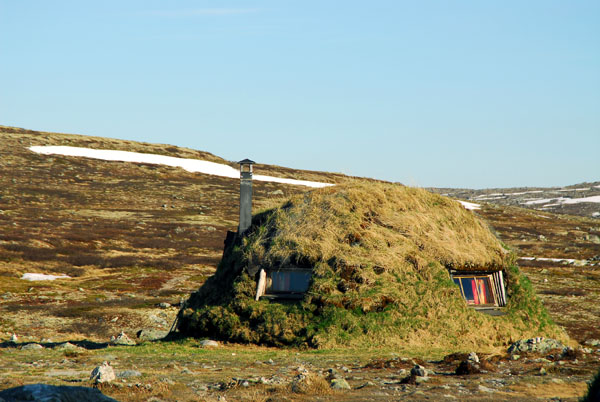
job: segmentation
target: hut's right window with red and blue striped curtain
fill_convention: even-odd
[[[454,283],[460,288],[460,292],[473,306],[504,306],[506,296],[504,292],[504,281],[502,272],[490,274],[454,273]]]

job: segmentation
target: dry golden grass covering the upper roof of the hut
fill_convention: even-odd
[[[457,269],[498,269],[505,252],[458,202],[423,189],[355,182],[292,198],[255,232],[248,259],[269,266],[342,257],[398,269],[434,259]]]

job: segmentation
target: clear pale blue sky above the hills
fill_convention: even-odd
[[[438,187],[600,180],[600,2],[0,0],[0,124]]]

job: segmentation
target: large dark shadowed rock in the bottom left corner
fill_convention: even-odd
[[[0,401],[117,402],[98,389],[87,387],[29,384],[0,392]]]

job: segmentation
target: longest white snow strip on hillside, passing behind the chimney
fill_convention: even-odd
[[[232,179],[237,179],[240,177],[240,172],[238,169],[234,169],[231,166],[223,165],[221,163],[203,161],[199,159],[186,159],[165,155],[143,154],[139,152],[114,151],[108,149],[91,149],[67,146],[33,146],[29,147],[29,149],[35,153],[44,155],[81,156],[84,158],[101,159],[106,161],[149,163],[153,165],[180,167],[192,173],[204,173],[213,176],[229,177]],[[284,179],[281,177],[263,175],[254,175],[253,179],[258,181],[269,181],[275,183],[284,183],[296,186],[307,186],[315,188],[333,186],[333,184],[331,183],[321,183],[308,180]]]

